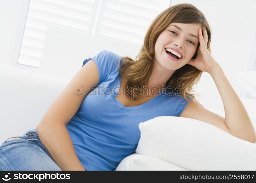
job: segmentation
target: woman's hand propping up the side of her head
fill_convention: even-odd
[[[210,74],[212,70],[219,67],[219,64],[214,60],[211,53],[207,49],[208,35],[206,28],[203,26],[203,34],[201,29],[198,30],[200,46],[197,51],[196,59],[190,60],[189,65],[196,67],[200,71],[205,71]]]

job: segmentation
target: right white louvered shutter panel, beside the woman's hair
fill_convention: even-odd
[[[96,30],[101,36],[142,44],[152,20],[169,4],[170,0],[107,0]]]

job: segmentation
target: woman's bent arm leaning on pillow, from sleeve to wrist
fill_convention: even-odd
[[[180,117],[188,117],[212,124],[235,137],[248,142],[256,142],[256,134],[251,120],[239,97],[218,66],[209,72],[222,98],[225,118],[205,109],[196,100],[191,100]]]

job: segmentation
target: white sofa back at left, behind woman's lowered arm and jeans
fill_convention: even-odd
[[[36,128],[69,81],[0,64],[0,144]]]

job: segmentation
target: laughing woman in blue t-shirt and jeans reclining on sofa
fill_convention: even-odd
[[[196,7],[164,10],[149,26],[136,61],[105,50],[86,59],[37,128],[3,143],[1,169],[115,170],[135,152],[138,124],[157,116],[201,120],[255,142],[252,123],[211,56],[210,42],[209,25]],[[215,81],[225,118],[190,93],[203,71]]]

